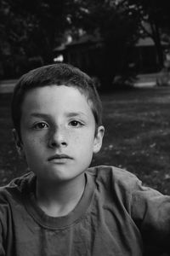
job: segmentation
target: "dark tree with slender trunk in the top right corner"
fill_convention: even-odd
[[[138,12],[140,32],[143,36],[152,38],[156,45],[159,67],[163,67],[163,50],[161,35],[170,31],[170,1],[169,0],[125,0],[131,9]],[[146,25],[150,25],[149,27]]]

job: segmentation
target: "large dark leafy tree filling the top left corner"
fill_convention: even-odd
[[[69,17],[77,11],[77,4],[72,3],[71,0],[2,0],[1,45],[5,44],[8,55],[13,56],[11,63],[14,56],[22,56],[25,64],[36,56],[45,64],[51,63],[53,49],[65,39],[65,32],[71,28]],[[1,55],[2,60],[6,59],[3,46]],[[26,69],[29,68],[27,65]]]

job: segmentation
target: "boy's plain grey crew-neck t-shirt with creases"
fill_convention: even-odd
[[[0,189],[0,255],[140,256],[170,252],[170,196],[112,166],[85,172],[81,200],[68,215],[37,206],[29,172]]]

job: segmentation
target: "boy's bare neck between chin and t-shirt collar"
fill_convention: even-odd
[[[77,206],[82,198],[85,183],[84,173],[67,183],[45,185],[37,180],[37,205],[48,216],[65,216]]]

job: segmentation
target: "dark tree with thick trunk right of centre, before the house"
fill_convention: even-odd
[[[84,31],[99,33],[103,40],[103,58],[100,58],[99,76],[111,85],[116,74],[127,74],[127,51],[139,37],[139,17],[136,9],[129,12],[127,3],[116,1],[80,1],[81,8],[74,24]]]

